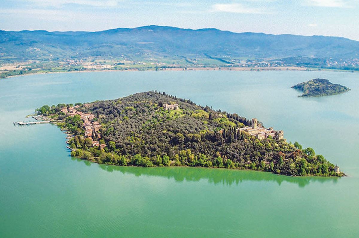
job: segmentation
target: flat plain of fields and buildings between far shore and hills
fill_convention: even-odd
[[[313,61],[313,62],[308,62]],[[25,74],[59,73],[73,71],[144,71],[144,70],[345,70],[358,71],[359,59],[333,60],[308,59],[302,57],[282,60],[239,60],[230,59],[67,59],[62,61],[28,60],[23,62],[0,62],[0,78]]]

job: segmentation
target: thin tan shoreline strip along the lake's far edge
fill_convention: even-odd
[[[346,72],[346,73],[358,73],[359,71],[351,71],[351,70],[339,70],[339,69],[315,69],[315,68],[307,68],[307,67],[299,67],[299,66],[281,66],[281,67],[179,67],[179,68],[160,68],[155,70],[154,68],[150,69],[95,69],[95,70],[72,70],[72,71],[59,71],[59,72],[41,72],[41,73],[30,73],[30,74],[19,74],[19,75],[11,75],[3,79],[9,79],[18,76],[28,76],[28,75],[40,75],[40,74],[60,74],[60,73],[88,73],[88,72],[135,72],[135,71],[333,71],[333,72]],[[1,73],[1,71],[0,71]]]

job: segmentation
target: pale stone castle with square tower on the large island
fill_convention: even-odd
[[[250,135],[256,136],[258,140],[265,139],[268,136],[271,136],[275,140],[283,139],[283,131],[275,131],[273,130],[273,127],[269,127],[268,129],[266,129],[263,126],[258,126],[257,123],[257,118],[252,118],[252,126],[245,126],[239,128],[238,130],[245,131]]]

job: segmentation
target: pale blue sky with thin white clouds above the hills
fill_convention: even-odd
[[[6,31],[167,25],[359,41],[359,0],[0,0]]]

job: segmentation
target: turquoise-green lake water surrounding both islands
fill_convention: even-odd
[[[313,78],[349,93],[298,98]],[[134,168],[71,158],[56,126],[14,126],[43,104],[157,89],[257,117],[349,177]],[[359,74],[299,71],[93,72],[0,80],[0,237],[358,237]]]

